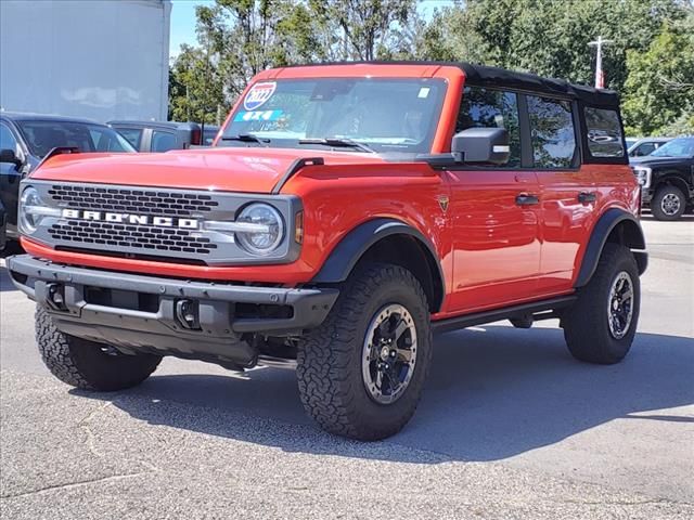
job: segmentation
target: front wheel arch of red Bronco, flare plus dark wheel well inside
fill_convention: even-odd
[[[311,283],[344,282],[360,262],[368,260],[408,269],[422,284],[429,310],[438,312],[441,309],[445,277],[436,249],[420,231],[396,219],[370,220],[347,233]]]

